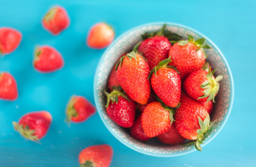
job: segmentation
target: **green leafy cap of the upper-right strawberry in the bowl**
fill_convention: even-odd
[[[190,35],[190,34],[188,34],[188,33],[187,33],[187,35],[188,35],[188,40],[179,40],[179,41],[170,41],[170,42],[172,42],[172,43],[178,42],[178,44],[179,44],[180,46],[184,46],[184,45],[187,45],[188,42],[192,42],[192,43],[194,43],[197,47],[199,47],[199,48],[197,49],[197,51],[198,51],[199,49],[202,50],[202,51],[204,52],[205,58],[207,58],[207,56],[206,56],[206,51],[205,51],[204,49],[211,49],[211,47],[209,47],[209,45],[204,45],[205,38],[199,38],[198,40],[195,40],[195,41],[194,41],[194,38],[193,38],[192,35]]]

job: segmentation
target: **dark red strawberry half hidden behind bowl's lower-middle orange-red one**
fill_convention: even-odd
[[[149,140],[149,137],[146,136],[142,128],[142,115],[138,116],[133,126],[130,127],[130,135],[132,135],[134,138],[140,141]]]

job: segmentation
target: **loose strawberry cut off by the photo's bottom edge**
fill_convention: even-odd
[[[85,148],[79,154],[81,167],[108,167],[113,157],[113,149],[110,145],[92,145]]]

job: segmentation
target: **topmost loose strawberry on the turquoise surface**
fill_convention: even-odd
[[[54,6],[43,17],[42,24],[52,35],[59,35],[63,30],[68,29],[70,18],[65,8]]]

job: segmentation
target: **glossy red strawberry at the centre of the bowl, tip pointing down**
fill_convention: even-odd
[[[167,106],[176,107],[181,98],[181,79],[175,68],[167,66],[169,62],[170,59],[167,58],[153,67],[149,78],[151,77],[151,86],[160,100]]]

